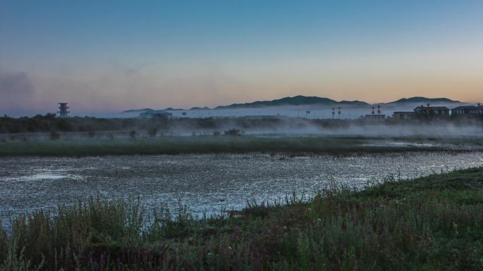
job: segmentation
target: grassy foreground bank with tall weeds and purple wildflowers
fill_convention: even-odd
[[[0,270],[483,270],[482,198],[475,168],[203,220],[93,199],[13,221]]]

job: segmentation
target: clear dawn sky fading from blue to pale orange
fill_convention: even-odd
[[[0,113],[483,102],[483,1],[0,0]]]

